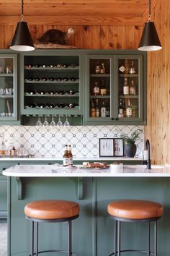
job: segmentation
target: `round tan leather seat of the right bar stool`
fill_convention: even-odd
[[[117,218],[148,219],[160,218],[163,207],[158,202],[146,200],[118,200],[107,206],[109,215]]]

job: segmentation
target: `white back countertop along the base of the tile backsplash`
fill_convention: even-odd
[[[63,161],[63,158],[17,158],[0,157],[0,161]],[[104,158],[73,158],[73,161],[142,161],[141,158],[104,157]]]

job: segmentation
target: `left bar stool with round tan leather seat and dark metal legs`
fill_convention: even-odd
[[[45,252],[63,252],[68,256],[76,255],[71,248],[71,221],[79,217],[79,204],[63,200],[43,200],[28,203],[24,208],[25,217],[32,221],[32,252],[30,256]],[[38,249],[38,223],[40,222],[68,222],[68,249],[39,251]],[[35,237],[36,223],[36,237]],[[36,250],[34,243],[36,239]],[[34,251],[35,250],[35,251]],[[78,255],[76,255],[78,256]]]

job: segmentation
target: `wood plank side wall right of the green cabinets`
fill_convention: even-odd
[[[163,49],[148,54],[148,123],[153,163],[170,164],[170,1],[159,0],[152,20]]]

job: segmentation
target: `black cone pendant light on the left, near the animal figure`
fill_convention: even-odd
[[[27,22],[23,21],[23,7],[24,3],[22,0],[21,22],[18,22],[10,48],[15,51],[33,51],[35,47],[32,42],[30,31]]]

